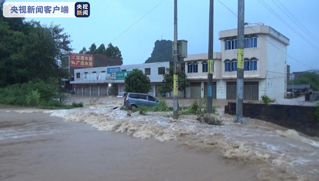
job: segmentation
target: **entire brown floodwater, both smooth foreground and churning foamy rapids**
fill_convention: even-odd
[[[1,109],[0,180],[319,180],[318,140],[293,130],[223,114],[223,126],[127,117],[112,106]]]

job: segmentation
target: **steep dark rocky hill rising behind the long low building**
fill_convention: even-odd
[[[172,61],[172,41],[156,40],[151,57],[145,63]]]

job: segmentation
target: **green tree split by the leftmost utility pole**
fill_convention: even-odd
[[[170,66],[166,69],[166,74],[163,75],[163,85],[159,90],[161,93],[171,92],[173,90],[173,72],[174,67]],[[178,90],[184,92],[184,98],[186,98],[186,88],[189,87],[189,82],[186,80],[185,73],[178,74]]]

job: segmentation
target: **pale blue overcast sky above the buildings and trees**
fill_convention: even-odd
[[[74,52],[78,52],[83,46],[88,49],[92,43],[97,46],[104,43],[107,46],[160,1],[162,0],[89,0],[91,15],[88,18],[36,18],[35,20],[42,24],[51,22],[61,24],[71,35]],[[221,1],[237,14],[237,0]],[[275,4],[280,5],[277,0],[263,1],[301,36],[261,5],[259,0],[245,0],[245,22],[262,22],[290,39],[288,54],[308,65],[305,66],[288,57],[290,72],[304,71],[311,67],[318,69],[319,0],[280,0],[317,39],[305,33],[295,24],[296,21],[289,19],[289,16]],[[143,63],[151,56],[156,40],[162,37],[173,39],[173,2],[174,0],[164,0],[130,30],[111,42],[120,48],[124,64]],[[178,0],[178,39],[188,40],[188,54],[208,52],[208,19],[209,0]],[[234,28],[237,28],[237,17],[218,0],[214,0],[214,52],[220,51],[221,48],[218,32]]]

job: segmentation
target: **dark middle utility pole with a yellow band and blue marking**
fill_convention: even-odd
[[[214,0],[209,2],[209,32],[208,32],[208,86],[207,86],[207,112],[213,112],[213,22],[214,22]]]

